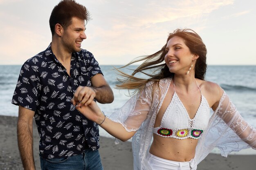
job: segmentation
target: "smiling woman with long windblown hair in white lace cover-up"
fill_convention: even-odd
[[[223,156],[256,149],[256,130],[243,120],[218,84],[204,80],[206,54],[197,33],[177,29],[160,51],[135,61],[144,63],[132,75],[121,73],[126,79],[119,79],[118,87],[138,92],[110,119],[95,102],[84,104],[82,92],[76,91],[72,103],[112,136],[122,141],[133,137],[136,170],[196,170],[214,147]],[[134,76],[147,70],[161,71],[145,73],[149,79]],[[210,108],[214,110],[211,117]]]

